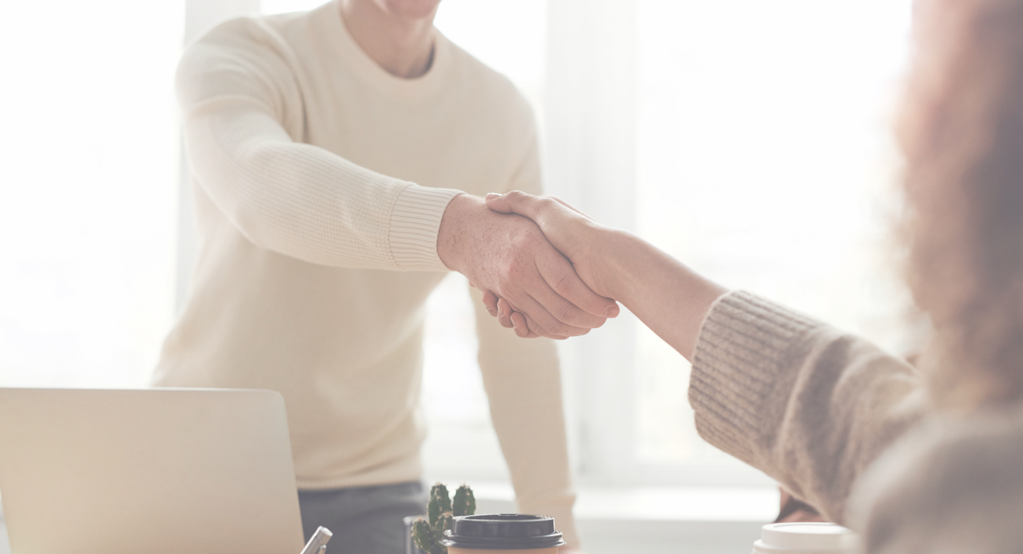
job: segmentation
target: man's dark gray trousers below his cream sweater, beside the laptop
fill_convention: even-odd
[[[299,491],[306,541],[323,525],[333,537],[327,554],[404,554],[408,515],[427,510],[421,482]]]

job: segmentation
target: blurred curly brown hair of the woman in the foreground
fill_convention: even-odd
[[[900,122],[939,406],[1023,400],[1023,0],[922,0]]]

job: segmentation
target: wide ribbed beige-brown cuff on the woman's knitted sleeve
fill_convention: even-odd
[[[821,326],[749,292],[718,298],[701,327],[690,378],[700,435],[756,465],[756,445],[774,434],[795,383],[800,345]]]

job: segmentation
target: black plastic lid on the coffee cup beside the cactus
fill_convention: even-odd
[[[514,550],[563,546],[562,534],[554,530],[554,518],[545,515],[496,513],[462,515],[444,532],[444,546]]]

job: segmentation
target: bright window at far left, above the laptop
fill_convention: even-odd
[[[0,385],[144,384],[173,318],[183,0],[7,2]]]

